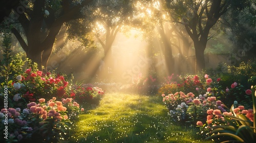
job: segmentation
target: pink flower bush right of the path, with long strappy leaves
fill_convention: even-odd
[[[253,100],[256,95],[251,98],[252,90],[237,82],[223,89],[221,78],[211,79],[207,74],[201,80],[197,75],[184,79],[181,86],[170,82],[159,90],[174,122],[188,122],[201,127],[201,133],[208,136],[207,139],[235,139],[241,142],[255,139],[255,110],[251,108],[255,105]],[[189,85],[196,90],[195,94],[178,92],[183,87],[190,90],[191,87],[185,87]]]

